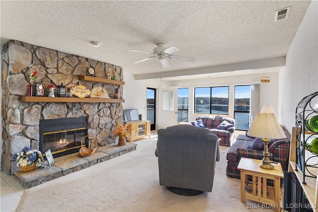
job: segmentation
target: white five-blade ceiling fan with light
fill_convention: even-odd
[[[165,44],[159,43],[157,44],[157,47],[153,50],[153,53],[151,52],[144,52],[139,50],[130,50],[132,52],[141,52],[146,54],[151,54],[152,56],[149,58],[145,58],[139,61],[135,61],[133,63],[140,63],[144,61],[148,61],[150,59],[158,58],[163,68],[168,68],[170,65],[168,63],[167,58],[174,59],[174,60],[180,60],[180,61],[187,61],[187,62],[193,62],[195,59],[190,57],[184,57],[184,56],[178,56],[178,55],[171,55],[172,53],[178,52],[181,49],[175,46],[171,46],[169,48],[165,48]]]

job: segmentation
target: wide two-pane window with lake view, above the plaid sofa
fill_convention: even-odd
[[[194,113],[229,114],[229,86],[194,88]]]

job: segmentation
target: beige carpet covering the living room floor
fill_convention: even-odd
[[[274,211],[240,202],[239,179],[226,176],[229,147],[220,146],[212,192],[186,197],[159,186],[157,135],[135,142],[135,151],[27,189],[17,212]]]

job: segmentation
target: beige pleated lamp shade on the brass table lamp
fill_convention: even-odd
[[[256,114],[247,136],[263,139],[285,139],[286,135],[278,123],[274,109],[265,105],[261,112]]]

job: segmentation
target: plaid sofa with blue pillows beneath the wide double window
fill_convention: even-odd
[[[199,116],[195,120],[201,119],[203,122],[203,125],[209,129],[210,133],[215,134],[220,141],[220,145],[223,146],[231,146],[234,137],[233,133],[235,131],[235,127],[232,127],[231,130],[228,129],[228,131],[225,130],[218,130],[216,129],[223,121],[227,121],[230,124],[235,125],[235,119],[231,119],[228,117],[222,117],[222,116]]]

